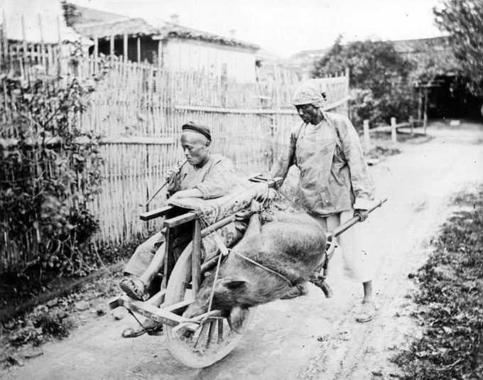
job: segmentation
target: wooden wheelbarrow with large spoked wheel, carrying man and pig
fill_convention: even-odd
[[[242,332],[232,329],[227,311],[211,310],[189,319],[183,317],[183,313],[195,300],[202,278],[212,271],[219,259],[219,254],[210,256],[208,249],[202,249],[202,239],[212,235],[215,240],[221,238],[226,242],[232,238],[229,233],[224,232],[226,227],[232,226],[237,220],[239,212],[246,210],[252,199],[262,198],[264,202],[269,202],[268,189],[281,182],[281,178],[264,178],[261,175],[253,176],[249,180],[251,185],[246,189],[217,200],[192,200],[193,205],[187,200],[183,207],[166,206],[141,215],[143,220],[165,217],[163,283],[161,291],[153,295],[162,301],[161,306],[157,308],[151,303],[133,300],[127,295],[115,298],[109,303],[110,308],[124,306],[134,313],[163,323],[168,349],[188,367],[210,366],[227,356],[243,337]],[[206,203],[205,207],[200,207],[203,202]],[[326,296],[330,296],[330,288],[325,283],[325,264],[333,254],[333,237],[355,224],[356,219],[349,220],[335,232],[329,233],[327,254],[322,262],[324,269],[313,278],[313,283],[322,288]],[[251,308],[246,313],[243,325],[251,320],[254,309]]]

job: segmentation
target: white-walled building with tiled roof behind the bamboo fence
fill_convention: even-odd
[[[151,26],[142,18],[129,18],[82,6],[75,6],[72,27],[82,36],[99,40],[99,53],[124,54],[127,59],[148,62],[172,71],[202,70],[227,75],[237,82],[256,80],[256,52],[259,46],[205,31],[181,26],[177,15],[170,22]]]

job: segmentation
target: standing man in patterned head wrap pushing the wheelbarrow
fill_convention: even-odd
[[[291,165],[296,165],[300,181],[295,202],[315,217],[325,231],[330,231],[354,215],[361,221],[367,219],[374,187],[354,126],[347,117],[323,112],[324,104],[325,94],[316,80],[303,83],[295,92],[293,105],[303,124],[291,132],[271,176],[285,179]],[[344,274],[362,283],[364,289],[356,320],[368,322],[377,311],[372,294],[376,265],[369,250],[360,246],[361,241],[357,225],[339,238]],[[306,293],[305,283],[293,288],[285,298]]]

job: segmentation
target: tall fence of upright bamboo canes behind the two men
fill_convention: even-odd
[[[99,156],[104,158],[102,192],[92,202],[99,218],[97,241],[118,244],[146,236],[160,222],[141,222],[139,204],[163,183],[166,171],[183,158],[178,139],[185,121],[200,120],[212,129],[212,151],[231,158],[241,173],[266,172],[288,135],[300,122],[291,107],[291,94],[299,84],[291,72],[279,70],[275,79],[237,83],[226,76],[204,72],[169,72],[156,65],[122,58],[107,61],[91,55],[72,67],[60,45],[4,43],[0,47],[2,73],[21,77],[76,75],[92,77],[107,68],[102,82],[79,115],[82,131],[102,134]],[[107,63],[106,63],[107,62]],[[14,94],[1,77],[1,138],[14,138]],[[320,81],[327,91],[326,109],[347,115],[348,73]],[[158,195],[149,209],[163,204]],[[12,237],[0,237],[0,262],[5,267],[27,257]],[[30,257],[28,259],[31,259]],[[1,273],[0,266],[0,273]]]

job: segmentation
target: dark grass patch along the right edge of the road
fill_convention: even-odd
[[[483,379],[483,192],[445,224],[416,281],[423,337],[394,361],[406,379]]]

